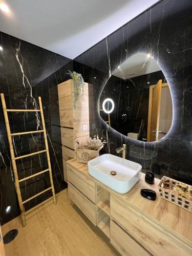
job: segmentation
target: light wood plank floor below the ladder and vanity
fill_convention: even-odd
[[[109,240],[76,206],[68,202],[68,190],[57,194],[57,205],[49,201],[27,216],[2,226],[4,234],[18,229],[17,237],[5,245],[6,256],[119,255]]]

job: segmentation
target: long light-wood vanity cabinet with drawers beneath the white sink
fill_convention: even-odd
[[[188,227],[191,220],[189,212],[165,200],[161,201],[163,199],[160,198],[159,201],[154,201],[154,207],[159,207],[162,202],[164,214],[167,210],[166,216],[169,221],[172,221],[172,226],[167,227],[156,218],[146,215],[146,210],[140,210],[133,205],[136,202],[131,201],[131,197],[138,193],[140,195],[144,174],[141,174],[141,180],[135,186],[135,190],[132,189],[127,194],[120,195],[92,178],[88,173],[87,164],[80,164],[72,159],[67,163],[67,170],[69,198],[110,239],[111,244],[121,255],[192,255],[192,242]],[[159,183],[159,181],[156,182]],[[143,201],[145,199],[140,196],[138,200],[145,205],[149,203]],[[175,230],[172,228],[173,221],[175,223],[173,220],[175,210],[170,211],[169,206],[174,207],[177,210],[177,216],[181,218],[181,221],[177,220],[178,232],[175,231],[176,228]],[[159,209],[158,214],[161,214],[162,206]],[[183,222],[185,217],[189,221],[187,225]]]

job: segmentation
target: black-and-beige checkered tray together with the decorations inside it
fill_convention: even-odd
[[[192,186],[163,176],[158,188],[163,199],[192,212]]]

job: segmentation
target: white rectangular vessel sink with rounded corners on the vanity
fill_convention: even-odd
[[[89,174],[114,191],[124,194],[140,179],[142,166],[138,163],[105,154],[88,162]]]

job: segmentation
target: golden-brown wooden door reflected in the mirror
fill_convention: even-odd
[[[150,86],[150,99],[148,104],[147,141],[158,140],[161,86],[162,80],[159,80],[155,86]]]

